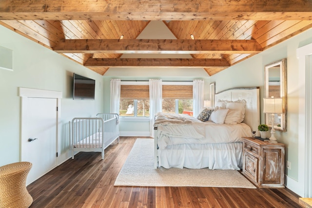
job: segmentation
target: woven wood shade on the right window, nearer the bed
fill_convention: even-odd
[[[193,99],[193,85],[163,85],[162,98]]]

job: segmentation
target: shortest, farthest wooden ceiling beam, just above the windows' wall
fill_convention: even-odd
[[[85,67],[229,67],[224,58],[89,58]]]

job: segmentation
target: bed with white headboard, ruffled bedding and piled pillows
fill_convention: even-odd
[[[156,114],[155,168],[242,168],[242,137],[252,136],[260,121],[259,88],[230,89],[215,100],[213,119],[205,122],[183,114]],[[237,106],[244,106],[244,113]]]

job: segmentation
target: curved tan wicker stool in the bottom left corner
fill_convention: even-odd
[[[33,203],[26,189],[26,178],[31,167],[30,162],[0,167],[0,208],[28,208]]]

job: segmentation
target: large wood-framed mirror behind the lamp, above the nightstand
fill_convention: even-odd
[[[283,113],[276,113],[274,119],[265,113],[265,124],[275,130],[287,131],[287,80],[286,58],[265,66],[264,91],[265,97],[281,97]],[[272,121],[273,120],[273,121]]]

